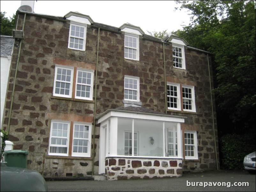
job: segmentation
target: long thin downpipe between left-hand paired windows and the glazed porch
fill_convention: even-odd
[[[100,41],[100,28],[98,28],[98,42],[97,42],[97,59],[96,59],[96,77],[95,77],[95,91],[94,91],[94,118],[93,118],[93,162],[92,162],[92,175],[94,175],[94,159],[95,159],[95,127],[96,127],[96,101],[97,101],[97,81],[98,81],[98,59],[99,59],[99,41]]]

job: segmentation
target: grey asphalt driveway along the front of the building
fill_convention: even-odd
[[[216,170],[178,178],[124,181],[47,181],[49,191],[256,191],[255,174]]]

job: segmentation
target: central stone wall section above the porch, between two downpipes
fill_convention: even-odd
[[[96,33],[96,32],[94,32]],[[162,43],[139,38],[139,61],[124,59],[124,33],[101,31],[99,53],[100,112],[124,107],[124,75],[139,77],[142,107],[164,109]],[[170,60],[170,55],[166,55]],[[162,99],[158,99],[162,98]],[[97,103],[98,104],[98,103]]]

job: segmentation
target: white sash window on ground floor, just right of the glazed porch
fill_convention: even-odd
[[[186,142],[186,139],[191,139],[191,138],[186,138],[186,134],[191,134],[193,135],[193,144],[191,144],[191,142],[188,143],[188,141]],[[186,146],[192,146],[193,149],[190,151],[194,151],[194,155],[189,155],[186,156]],[[198,150],[197,150],[197,133],[196,131],[184,131],[184,151],[185,151],[185,159],[198,159]]]

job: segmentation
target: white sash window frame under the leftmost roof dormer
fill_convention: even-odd
[[[78,36],[78,34],[73,34],[73,27],[75,27],[75,30],[77,29],[77,27],[82,27],[84,28],[84,32],[83,32],[83,35]],[[75,31],[76,33],[79,33],[78,31]],[[81,51],[85,51],[85,43],[86,43],[86,33],[87,33],[87,25],[86,24],[78,24],[78,23],[74,23],[74,22],[70,22],[70,29],[69,29],[69,38],[68,38],[68,48],[70,49],[76,49],[76,50],[81,50]],[[77,40],[80,40],[80,41],[83,41],[82,43],[82,48],[75,48],[74,46],[72,46],[72,43],[71,42],[71,38],[75,38]]]

